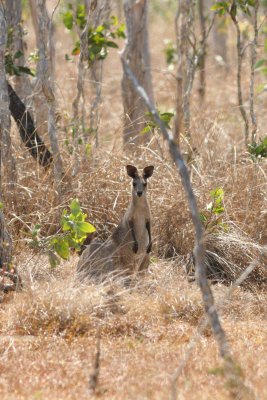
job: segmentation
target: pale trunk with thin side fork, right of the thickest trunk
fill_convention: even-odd
[[[187,144],[187,159],[191,159],[194,149],[191,138],[190,100],[196,69],[200,68],[200,95],[205,95],[205,54],[207,39],[214,24],[215,14],[206,26],[204,2],[198,0],[200,14],[200,39],[197,37],[195,21],[196,0],[178,0],[175,16],[176,47],[178,55],[176,116],[174,120],[173,137],[180,146],[181,134]]]

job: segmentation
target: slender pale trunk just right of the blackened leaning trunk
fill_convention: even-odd
[[[38,21],[38,54],[37,65],[37,92],[42,90],[48,108],[48,134],[51,143],[54,159],[54,178],[58,194],[61,193],[63,178],[63,165],[59,151],[57,126],[56,126],[56,100],[54,95],[54,68],[52,43],[52,14],[48,16],[45,0],[36,1],[37,21]]]

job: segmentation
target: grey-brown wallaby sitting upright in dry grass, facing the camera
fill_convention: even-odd
[[[120,224],[106,242],[94,239],[82,253],[77,266],[81,279],[104,279],[115,272],[128,275],[148,267],[152,239],[146,191],[147,179],[152,176],[154,167],[145,167],[141,176],[133,165],[127,165],[126,170],[133,179],[131,202]]]

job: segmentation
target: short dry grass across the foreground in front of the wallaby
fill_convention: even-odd
[[[1,398],[10,393],[14,399],[88,398],[99,334],[96,396],[168,398],[171,374],[203,316],[197,286],[187,281],[177,262],[153,264],[131,289],[120,282],[81,286],[75,281],[75,263],[66,263],[61,276],[27,280],[35,268],[33,259],[24,271],[23,292],[5,297],[0,313]],[[214,289],[220,304],[227,289]],[[236,361],[259,399],[267,394],[265,303],[264,292],[237,288],[220,308]],[[178,382],[179,396],[228,399],[220,371],[216,344],[205,330]]]

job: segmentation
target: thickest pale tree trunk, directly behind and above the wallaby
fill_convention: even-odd
[[[123,58],[127,61],[150,98],[153,99],[147,29],[147,0],[124,0],[124,13],[127,40],[122,53]],[[122,78],[122,99],[124,107],[124,144],[141,144],[144,141],[148,141],[149,134],[140,135],[140,132],[145,127],[145,103],[134,90],[125,72]]]

